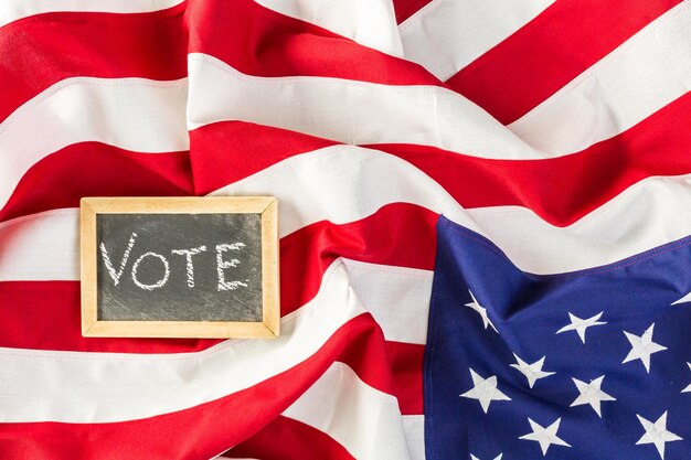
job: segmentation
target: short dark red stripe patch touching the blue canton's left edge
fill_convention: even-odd
[[[427,321],[425,318],[424,321]],[[401,414],[422,415],[423,404],[423,360],[425,345],[403,342],[386,342],[391,363],[393,395],[398,398]]]

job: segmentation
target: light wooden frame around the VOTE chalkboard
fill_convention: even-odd
[[[123,338],[274,339],[279,334],[278,201],[273,196],[81,200],[82,334]],[[104,321],[97,310],[97,214],[244,214],[262,220],[262,322]]]

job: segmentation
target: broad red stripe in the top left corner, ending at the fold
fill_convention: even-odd
[[[0,120],[74,76],[177,79],[187,75],[185,4],[148,13],[53,12],[0,33]]]

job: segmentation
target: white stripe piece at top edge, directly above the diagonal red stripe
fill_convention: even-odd
[[[554,0],[434,0],[401,23],[403,53],[448,79]]]

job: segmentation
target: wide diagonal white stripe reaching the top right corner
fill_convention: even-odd
[[[691,2],[648,24],[509,128],[538,150],[581,151],[691,90]]]

